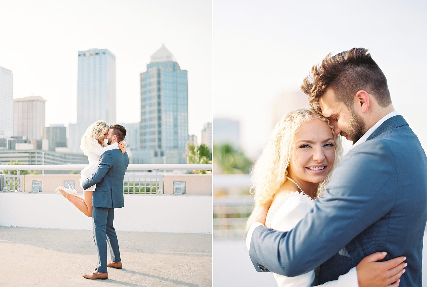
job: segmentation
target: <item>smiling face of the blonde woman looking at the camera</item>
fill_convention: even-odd
[[[332,129],[320,119],[304,122],[295,133],[288,175],[299,182],[321,183],[332,170]]]

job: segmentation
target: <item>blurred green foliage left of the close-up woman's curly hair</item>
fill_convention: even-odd
[[[213,162],[222,174],[248,174],[253,162],[230,144],[213,145]]]

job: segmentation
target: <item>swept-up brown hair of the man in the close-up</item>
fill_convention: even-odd
[[[319,99],[328,88],[334,91],[336,100],[344,102],[349,109],[353,108],[354,96],[359,90],[374,96],[381,107],[392,103],[386,76],[364,48],[353,48],[335,56],[329,54],[304,78],[301,90],[308,95],[317,113],[322,113]]]

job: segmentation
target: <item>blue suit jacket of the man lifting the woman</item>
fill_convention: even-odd
[[[97,170],[82,182],[84,189],[97,185],[92,197],[93,206],[105,208],[124,206],[123,178],[128,165],[128,154],[122,154],[118,148],[101,154]]]

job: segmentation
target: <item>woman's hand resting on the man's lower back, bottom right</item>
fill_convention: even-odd
[[[376,262],[386,257],[387,252],[375,252],[366,256],[356,266],[359,287],[397,287],[405,273],[406,257],[396,257],[388,261]]]

